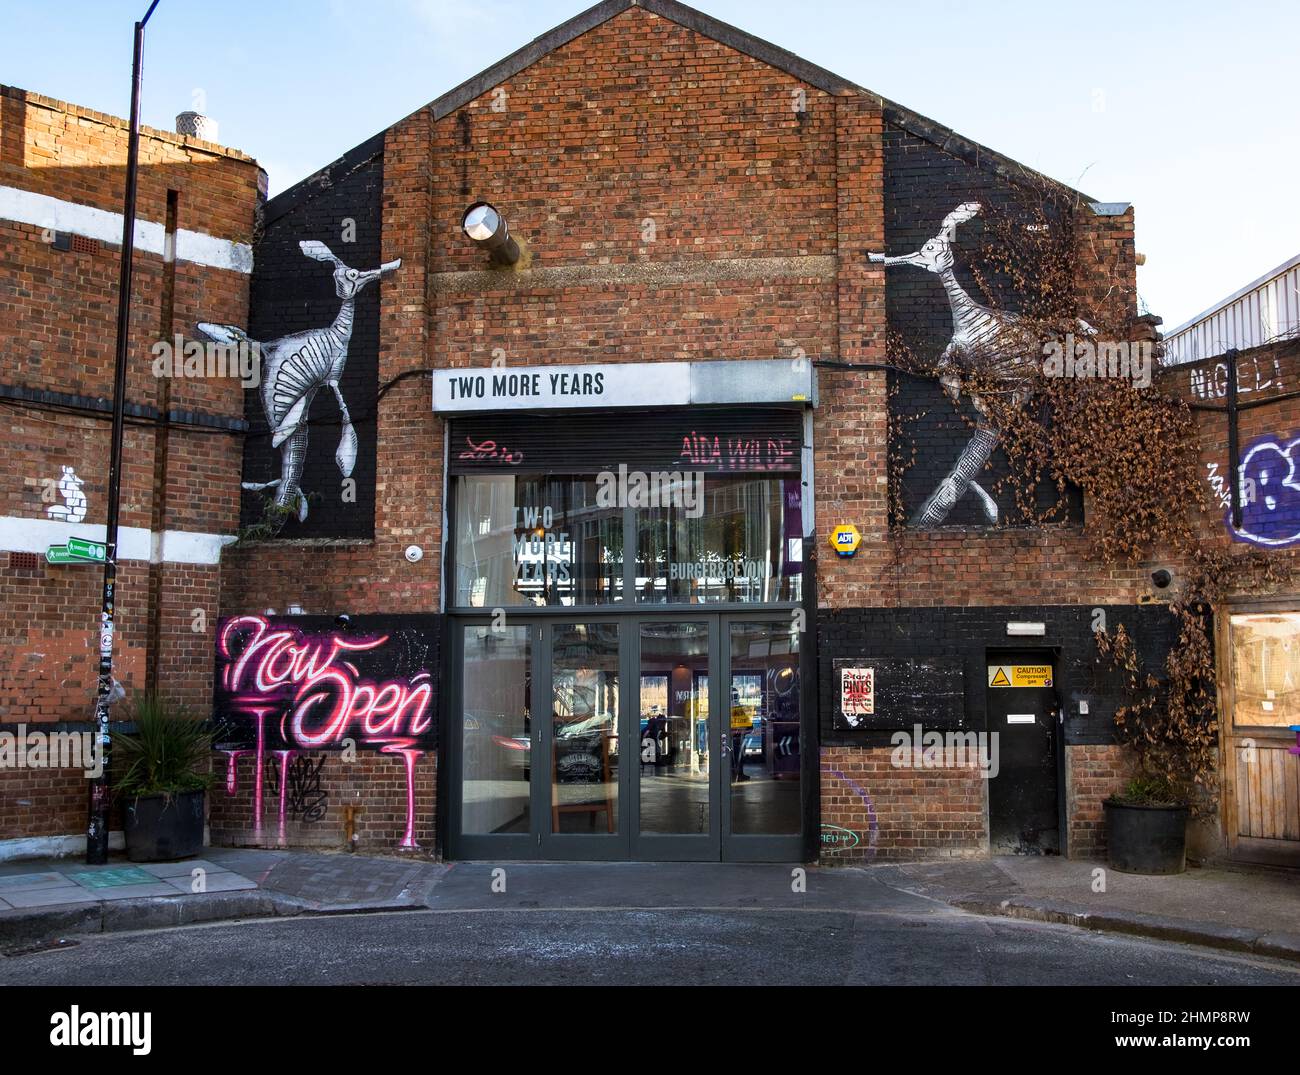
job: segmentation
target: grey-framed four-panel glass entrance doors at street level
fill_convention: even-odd
[[[802,859],[788,617],[530,617],[454,638],[454,857]]]

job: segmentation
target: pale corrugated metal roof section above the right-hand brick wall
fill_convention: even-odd
[[[1261,347],[1300,331],[1300,253],[1204,313],[1165,334],[1165,365],[1182,365],[1236,347]]]

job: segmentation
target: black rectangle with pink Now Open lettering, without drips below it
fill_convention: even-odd
[[[437,616],[230,616],[217,625],[221,745],[432,750]]]

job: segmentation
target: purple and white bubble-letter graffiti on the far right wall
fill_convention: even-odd
[[[1223,526],[1235,541],[1266,549],[1300,545],[1300,474],[1296,448],[1300,433],[1260,437],[1242,454],[1242,525],[1232,526],[1231,490],[1216,471],[1210,487],[1226,506]],[[1213,464],[1212,464],[1213,465]]]

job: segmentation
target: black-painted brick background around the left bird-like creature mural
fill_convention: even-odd
[[[290,333],[324,328],[338,315],[342,300],[334,292],[333,266],[299,250],[303,239],[318,239],[350,268],[378,268],[384,196],[382,152],[363,162],[339,161],[302,186],[316,187],[307,198],[270,220],[257,243],[254,261],[250,334],[272,341]],[[282,195],[283,198],[285,195]],[[270,208],[274,201],[270,203]],[[343,242],[344,221],[355,221],[355,240]],[[303,491],[308,494],[306,523],[290,519],[280,537],[374,536],[374,409],[378,390],[380,289],[382,281],[358,295],[341,389],[359,441],[352,478],[356,502],[344,503],[343,474],[334,463],[342,425],[334,394],[322,389],[312,402]],[[270,481],[280,476],[280,450],[272,448],[257,393],[248,393],[243,480]],[[261,494],[246,491],[242,523],[261,517]]]

